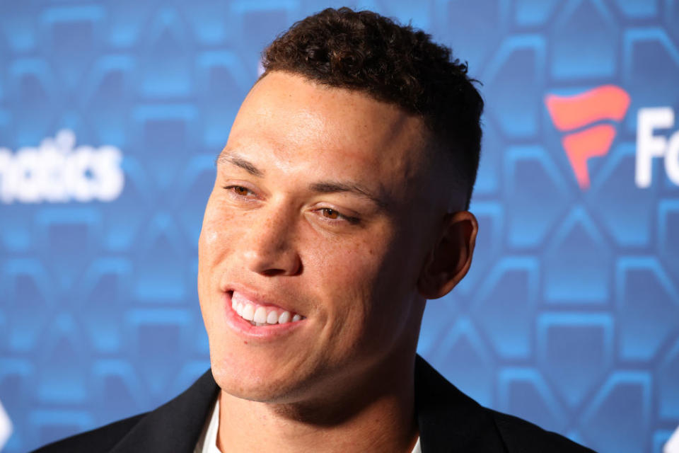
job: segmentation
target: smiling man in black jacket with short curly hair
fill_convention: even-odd
[[[482,408],[416,355],[426,299],[474,251],[483,103],[465,65],[341,8],[296,23],[264,67],[199,239],[211,372],[40,451],[587,451]]]

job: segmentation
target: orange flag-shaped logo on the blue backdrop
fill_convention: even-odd
[[[555,127],[565,134],[561,142],[581,189],[589,188],[587,160],[605,156],[615,138],[615,127],[595,124],[620,121],[629,108],[629,94],[619,86],[603,85],[574,96],[545,96]]]

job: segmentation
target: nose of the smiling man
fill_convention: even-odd
[[[261,275],[296,275],[301,258],[296,249],[295,216],[282,207],[266,207],[253,212],[241,244],[249,270]]]

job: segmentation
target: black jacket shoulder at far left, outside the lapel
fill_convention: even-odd
[[[40,447],[33,453],[107,452],[115,447],[145,415],[146,413],[140,413],[139,415],[117,420],[91,431],[66,437],[65,439]]]

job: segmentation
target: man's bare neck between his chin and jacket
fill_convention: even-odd
[[[418,435],[413,372],[371,379],[361,391],[318,403],[260,403],[221,391],[217,446],[222,452],[408,453]]]

